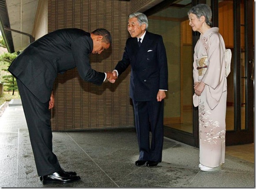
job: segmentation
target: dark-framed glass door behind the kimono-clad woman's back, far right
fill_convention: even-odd
[[[226,48],[232,50],[232,71],[227,78],[226,145],[253,143],[254,2],[218,0],[218,27]]]

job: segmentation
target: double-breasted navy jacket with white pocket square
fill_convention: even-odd
[[[162,36],[146,32],[141,46],[137,38],[128,38],[124,55],[118,62],[118,74],[131,64],[130,97],[135,101],[156,99],[159,89],[168,90],[166,49]]]

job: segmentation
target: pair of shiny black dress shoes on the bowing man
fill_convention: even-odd
[[[78,181],[80,179],[81,178],[79,176],[67,174],[67,172],[63,171],[62,169],[55,173],[42,176],[43,185],[49,184],[49,183],[66,184],[69,182]]]

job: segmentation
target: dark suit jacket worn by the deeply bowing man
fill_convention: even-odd
[[[8,71],[41,102],[49,101],[58,73],[77,67],[83,80],[101,85],[105,73],[91,69],[90,33],[82,29],[59,29],[30,44],[11,63]]]

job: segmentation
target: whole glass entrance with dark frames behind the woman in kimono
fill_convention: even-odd
[[[169,91],[165,99],[165,136],[199,145],[198,109],[193,107],[193,49],[200,33],[188,25],[188,10],[198,0],[165,0],[144,12],[149,31],[162,35],[168,60]],[[226,48],[232,51],[228,76],[226,145],[254,138],[254,4],[252,0],[203,0],[213,12]],[[217,18],[216,18],[217,17]],[[253,40],[249,40],[253,39]]]

